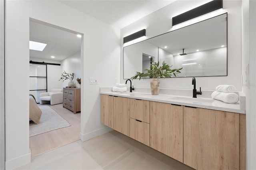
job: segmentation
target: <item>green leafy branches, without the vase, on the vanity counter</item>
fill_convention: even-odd
[[[136,72],[136,74],[131,77],[131,79],[136,79],[137,77],[139,77],[139,79],[141,78],[167,78],[167,77],[171,77],[172,75],[174,75],[175,77],[180,73],[180,70],[182,68],[179,69],[171,69],[172,66],[166,64],[165,61],[163,61],[162,66],[159,65],[159,61],[158,62],[154,62],[152,60],[152,63],[150,64],[150,68],[145,69],[146,73],[140,73],[140,72]]]

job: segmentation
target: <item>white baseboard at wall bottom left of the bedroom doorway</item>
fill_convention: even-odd
[[[29,153],[25,154],[23,156],[20,156],[18,158],[14,158],[12,160],[8,160],[5,162],[5,169],[6,170],[13,170],[15,168],[18,168],[20,166],[29,164],[31,162],[31,153],[29,149]]]

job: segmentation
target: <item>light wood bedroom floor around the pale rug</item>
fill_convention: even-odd
[[[81,114],[74,114],[72,111],[63,108],[62,104],[49,106],[68,121],[71,126],[30,137],[31,157],[80,140]]]

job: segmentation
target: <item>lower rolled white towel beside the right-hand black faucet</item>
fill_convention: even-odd
[[[212,93],[212,99],[220,100],[225,103],[237,103],[239,96],[236,93],[224,93],[220,91],[214,91]]]

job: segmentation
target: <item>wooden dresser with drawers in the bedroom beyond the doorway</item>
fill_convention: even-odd
[[[63,107],[74,114],[81,112],[81,88],[63,88]]]

